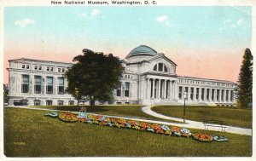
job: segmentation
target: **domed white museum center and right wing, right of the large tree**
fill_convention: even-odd
[[[125,73],[114,91],[116,104],[189,104],[231,105],[236,83],[206,78],[181,77],[172,60],[141,45],[122,60]]]

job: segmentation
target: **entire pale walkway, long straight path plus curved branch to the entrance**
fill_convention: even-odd
[[[9,107],[9,106],[4,106],[4,107]],[[14,107],[14,106],[12,106]],[[61,111],[61,110],[51,110],[47,108],[38,108],[38,107],[27,107],[27,106],[15,106],[14,108],[24,108],[24,109],[31,109],[31,110],[42,110],[42,111],[56,111],[56,112],[67,112],[67,111]],[[147,113],[148,115],[154,116],[156,118],[164,118],[164,119],[169,119],[169,120],[174,120],[174,121],[179,121],[183,122],[183,119],[181,118],[171,118],[167,117],[164,115],[161,115],[159,113],[153,112],[150,109],[150,106],[145,106],[142,108],[143,112]],[[89,114],[95,114],[95,115],[102,115],[102,114],[96,114],[96,113],[90,113]],[[129,117],[117,117],[117,116],[111,116],[111,115],[103,115],[106,117],[112,117],[112,118],[125,118],[125,119],[132,119],[136,121],[143,121],[147,123],[153,123],[153,124],[166,124],[166,125],[172,125],[172,126],[178,126],[178,127],[184,127],[184,128],[192,128],[192,129],[205,129],[204,124],[201,122],[196,122],[196,121],[191,121],[191,120],[186,120],[186,124],[183,123],[170,123],[170,122],[165,122],[165,121],[155,121],[155,120],[149,120],[149,119],[142,119],[142,118],[129,118]],[[219,131],[219,127],[211,127],[212,129],[210,130],[216,130]],[[245,129],[245,128],[238,128],[238,127],[232,127],[228,126],[226,128],[226,132],[229,133],[234,133],[234,134],[240,134],[240,135],[252,135],[252,129]]]

